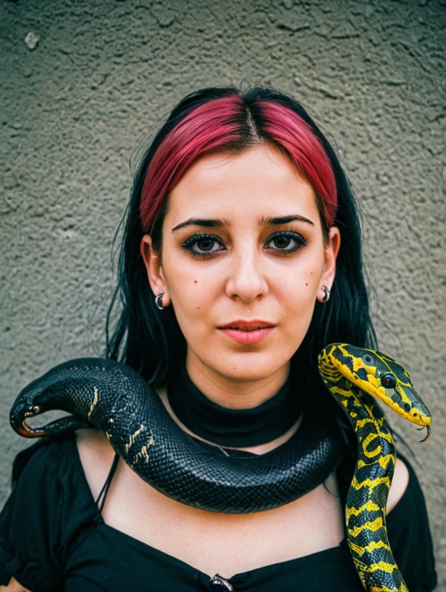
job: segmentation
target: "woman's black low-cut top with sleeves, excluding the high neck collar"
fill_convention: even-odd
[[[410,592],[431,592],[437,576],[425,501],[412,466],[403,460],[409,485],[387,516],[390,545]],[[15,477],[0,514],[0,585],[14,575],[33,592],[212,590],[214,574],[105,525],[73,434],[21,453]],[[346,490],[343,505],[345,495]],[[335,548],[240,573],[229,582],[235,592],[363,592],[345,538]]]

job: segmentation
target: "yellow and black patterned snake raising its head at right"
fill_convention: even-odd
[[[395,445],[374,397],[420,426],[431,414],[413,390],[405,368],[373,350],[333,343],[319,354],[319,372],[344,409],[358,439],[358,461],[346,500],[345,520],[352,559],[365,590],[408,592],[390,549],[386,504],[395,465]]]

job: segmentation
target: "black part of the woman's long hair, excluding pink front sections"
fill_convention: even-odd
[[[258,101],[276,102],[296,112],[312,128],[325,150],[335,175],[338,192],[338,210],[334,224],[341,231],[341,247],[336,260],[336,278],[329,301],[316,302],[309,330],[299,349],[291,358],[291,367],[300,375],[300,385],[309,392],[312,407],[317,413],[335,417],[345,439],[356,452],[356,438],[344,411],[328,393],[317,371],[317,355],[324,346],[333,342],[352,343],[359,347],[376,349],[376,335],[369,313],[368,295],[362,269],[361,227],[357,204],[348,179],[338,157],[319,127],[291,96],[272,89],[251,88],[240,92],[233,86],[206,88],[186,96],[171,111],[165,124],[158,131],[134,177],[127,207],[124,236],[118,260],[118,286],[107,316],[107,357],[119,359],[139,372],[152,386],[162,384],[166,377],[174,375],[184,360],[185,338],[178,325],[172,307],[160,311],[147,281],[146,268],[140,255],[140,241],[145,231],[140,220],[139,205],[147,168],[159,145],[179,121],[188,113],[213,99],[232,94],[242,96],[246,105],[246,123],[256,130],[262,128]],[[265,139],[265,136],[264,136]],[[268,141],[268,138],[265,139]],[[163,200],[166,204],[166,200]],[[161,208],[152,228],[152,240],[161,241],[161,226],[165,215]],[[122,311],[110,331],[111,317],[117,297]],[[352,437],[354,436],[354,437]]]

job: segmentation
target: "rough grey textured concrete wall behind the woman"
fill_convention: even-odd
[[[272,85],[335,141],[364,214],[381,349],[434,415],[425,445],[393,425],[416,452],[446,590],[445,3],[2,0],[0,22],[1,501],[29,443],[8,426],[15,396],[102,353],[137,143],[194,89]]]

